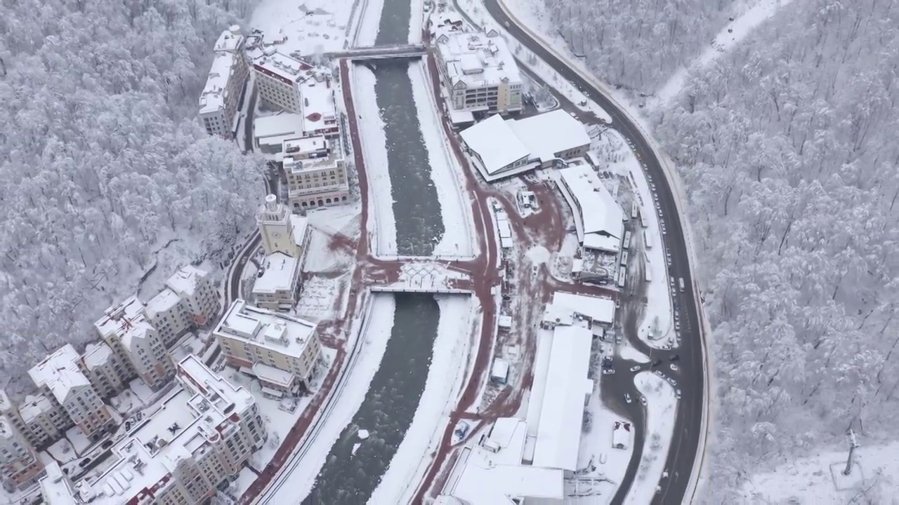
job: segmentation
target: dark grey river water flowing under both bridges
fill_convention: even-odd
[[[410,11],[408,0],[385,0],[377,45],[406,43]],[[391,187],[403,195],[394,203],[397,250],[403,255],[429,256],[444,228],[409,66],[404,61],[382,61],[369,68],[377,78],[375,93],[385,123]],[[440,309],[432,295],[398,293],[395,297],[394,326],[380,368],[359,411],[331,448],[316,488],[304,503],[367,502],[412,424],[428,377]],[[352,454],[360,429],[369,430],[369,439]]]

